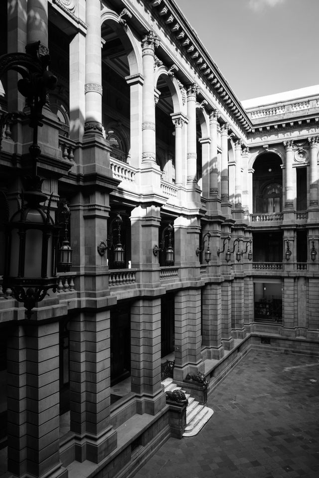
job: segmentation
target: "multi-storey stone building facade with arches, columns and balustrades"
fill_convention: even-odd
[[[73,255],[29,319],[0,282],[0,471],[129,476],[170,436],[167,359],[213,390],[249,347],[319,353],[319,88],[241,104],[172,0],[5,3],[0,55],[40,40],[58,79],[38,173]],[[4,120],[17,79],[1,273],[31,142]]]

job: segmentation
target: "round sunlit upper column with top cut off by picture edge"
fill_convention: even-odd
[[[101,2],[86,2],[85,136],[102,136]]]

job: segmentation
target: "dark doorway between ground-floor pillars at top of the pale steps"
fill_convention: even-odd
[[[174,352],[175,332],[175,297],[174,294],[166,294],[160,303],[160,333],[161,333],[161,357]]]

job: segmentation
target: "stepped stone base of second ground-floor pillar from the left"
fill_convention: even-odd
[[[117,447],[117,431],[109,427],[99,437],[85,435],[82,438],[75,437],[75,441],[76,461],[99,463]]]

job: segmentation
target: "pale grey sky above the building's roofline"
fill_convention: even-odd
[[[319,0],[175,0],[239,100],[319,85]]]

